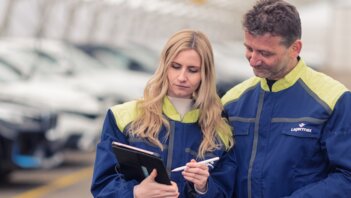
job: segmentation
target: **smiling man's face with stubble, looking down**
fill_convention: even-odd
[[[296,42],[299,44],[296,46]],[[254,36],[245,32],[245,56],[257,77],[279,80],[289,73],[297,64],[301,45],[297,40],[291,46],[282,44],[282,37],[264,34]]]

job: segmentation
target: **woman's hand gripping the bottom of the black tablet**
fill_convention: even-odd
[[[145,178],[139,185],[134,187],[134,198],[176,198],[179,196],[178,186],[171,182],[172,185],[160,184],[155,181],[157,171],[152,170],[151,174]]]

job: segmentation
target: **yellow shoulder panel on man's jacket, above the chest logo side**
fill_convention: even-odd
[[[306,72],[301,75],[305,85],[324,103],[333,110],[340,96],[348,89],[333,78],[306,67]]]

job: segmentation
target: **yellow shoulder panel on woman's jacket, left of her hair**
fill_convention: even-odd
[[[115,116],[117,127],[120,131],[123,132],[125,127],[136,118],[136,103],[137,101],[130,101],[111,107],[111,111]]]

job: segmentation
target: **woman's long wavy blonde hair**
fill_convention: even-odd
[[[230,126],[221,116],[223,106],[216,92],[212,47],[208,38],[199,31],[181,30],[170,37],[161,53],[159,66],[145,87],[144,98],[137,103],[138,116],[129,132],[163,149],[158,133],[162,126],[167,129],[167,137],[170,131],[169,122],[162,114],[163,99],[169,86],[167,70],[179,52],[187,49],[194,49],[202,64],[201,83],[193,93],[193,99],[194,107],[200,110],[198,124],[203,134],[198,157],[204,158],[206,152],[221,146],[220,139],[224,140],[222,143],[226,149],[232,147],[234,141]]]

